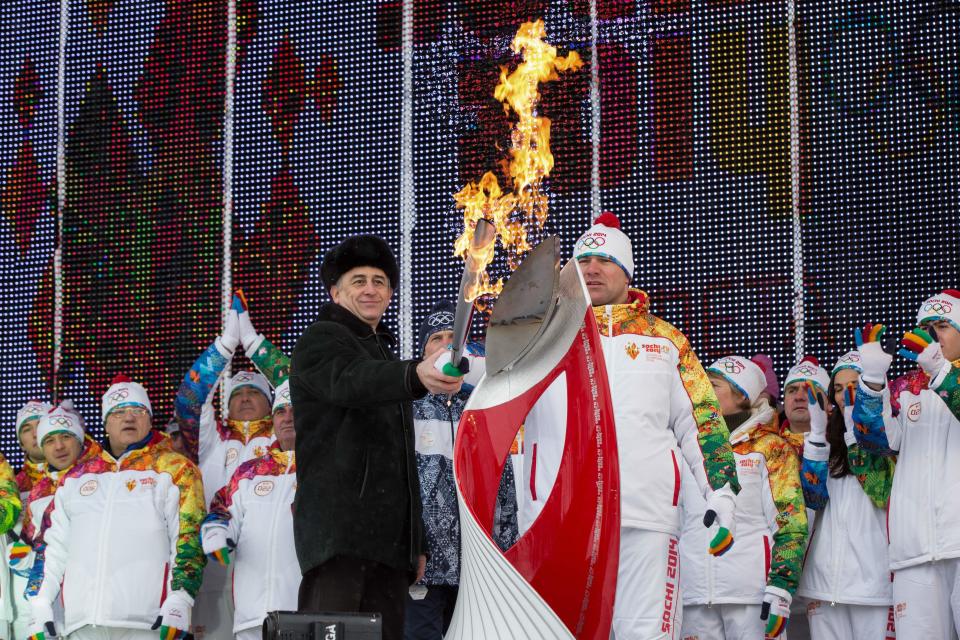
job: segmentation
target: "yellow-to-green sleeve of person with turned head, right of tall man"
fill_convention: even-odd
[[[770,494],[776,509],[776,531],[770,550],[767,584],[793,594],[800,583],[807,549],[807,510],[800,486],[800,456],[783,438],[762,442]]]

